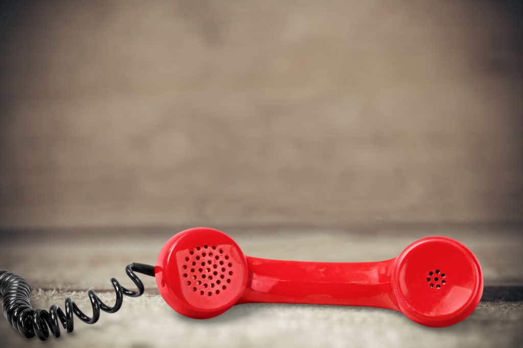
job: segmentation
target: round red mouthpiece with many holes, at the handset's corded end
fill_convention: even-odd
[[[233,306],[247,285],[240,247],[212,228],[191,228],[170,238],[156,261],[160,294],[178,313],[211,318]]]

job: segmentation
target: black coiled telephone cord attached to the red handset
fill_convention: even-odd
[[[49,338],[49,330],[54,337],[60,337],[59,322],[67,332],[73,331],[73,313],[82,321],[94,324],[100,318],[100,309],[114,313],[122,306],[123,295],[130,297],[141,296],[144,292],[142,281],[134,272],[154,276],[154,266],[143,263],[131,263],[126,267],[126,273],[134,284],[138,287],[137,291],[131,291],[118,283],[115,278],[111,278],[112,287],[116,292],[116,303],[110,307],[104,304],[93,290],[89,290],[89,300],[93,307],[93,317],[86,316],[71,297],[65,299],[65,313],[56,306],[52,305],[49,311],[31,307],[31,286],[21,276],[0,270],[0,296],[3,297],[2,306],[4,316],[9,324],[27,338],[35,335],[42,341]]]

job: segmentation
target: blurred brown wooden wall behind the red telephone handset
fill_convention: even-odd
[[[518,2],[7,2],[0,227],[519,222]]]

